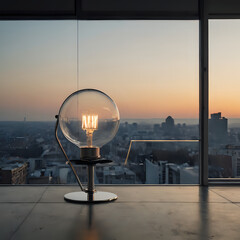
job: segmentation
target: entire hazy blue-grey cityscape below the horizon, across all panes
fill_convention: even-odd
[[[211,114],[209,178],[240,176],[240,128],[228,125],[228,119],[220,112]],[[54,122],[28,122],[26,118],[19,122],[0,122],[1,184],[77,183],[57,145],[54,128]],[[154,121],[124,120],[115,138],[101,148],[101,156],[112,162],[96,165],[95,183],[198,184],[198,132],[196,121],[178,123],[171,116]],[[69,159],[79,159],[79,148],[61,130],[58,134]],[[141,141],[132,143],[125,164],[131,140]],[[86,183],[87,166],[75,165],[75,168],[80,180]]]

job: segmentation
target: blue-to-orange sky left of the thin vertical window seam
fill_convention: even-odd
[[[0,22],[0,120],[54,120],[77,89],[76,22]]]

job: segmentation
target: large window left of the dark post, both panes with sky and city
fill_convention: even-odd
[[[121,115],[96,183],[199,183],[198,21],[4,21],[0,31],[1,183],[76,182],[54,116],[82,88],[106,92]]]

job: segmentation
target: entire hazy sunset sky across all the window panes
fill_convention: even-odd
[[[240,117],[239,27],[210,23],[210,110],[226,117]],[[122,118],[198,118],[198,21],[1,21],[0,33],[0,120],[54,120],[77,88],[106,92]]]

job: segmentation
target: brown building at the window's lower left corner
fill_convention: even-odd
[[[0,168],[0,184],[25,184],[27,163],[15,163]]]

